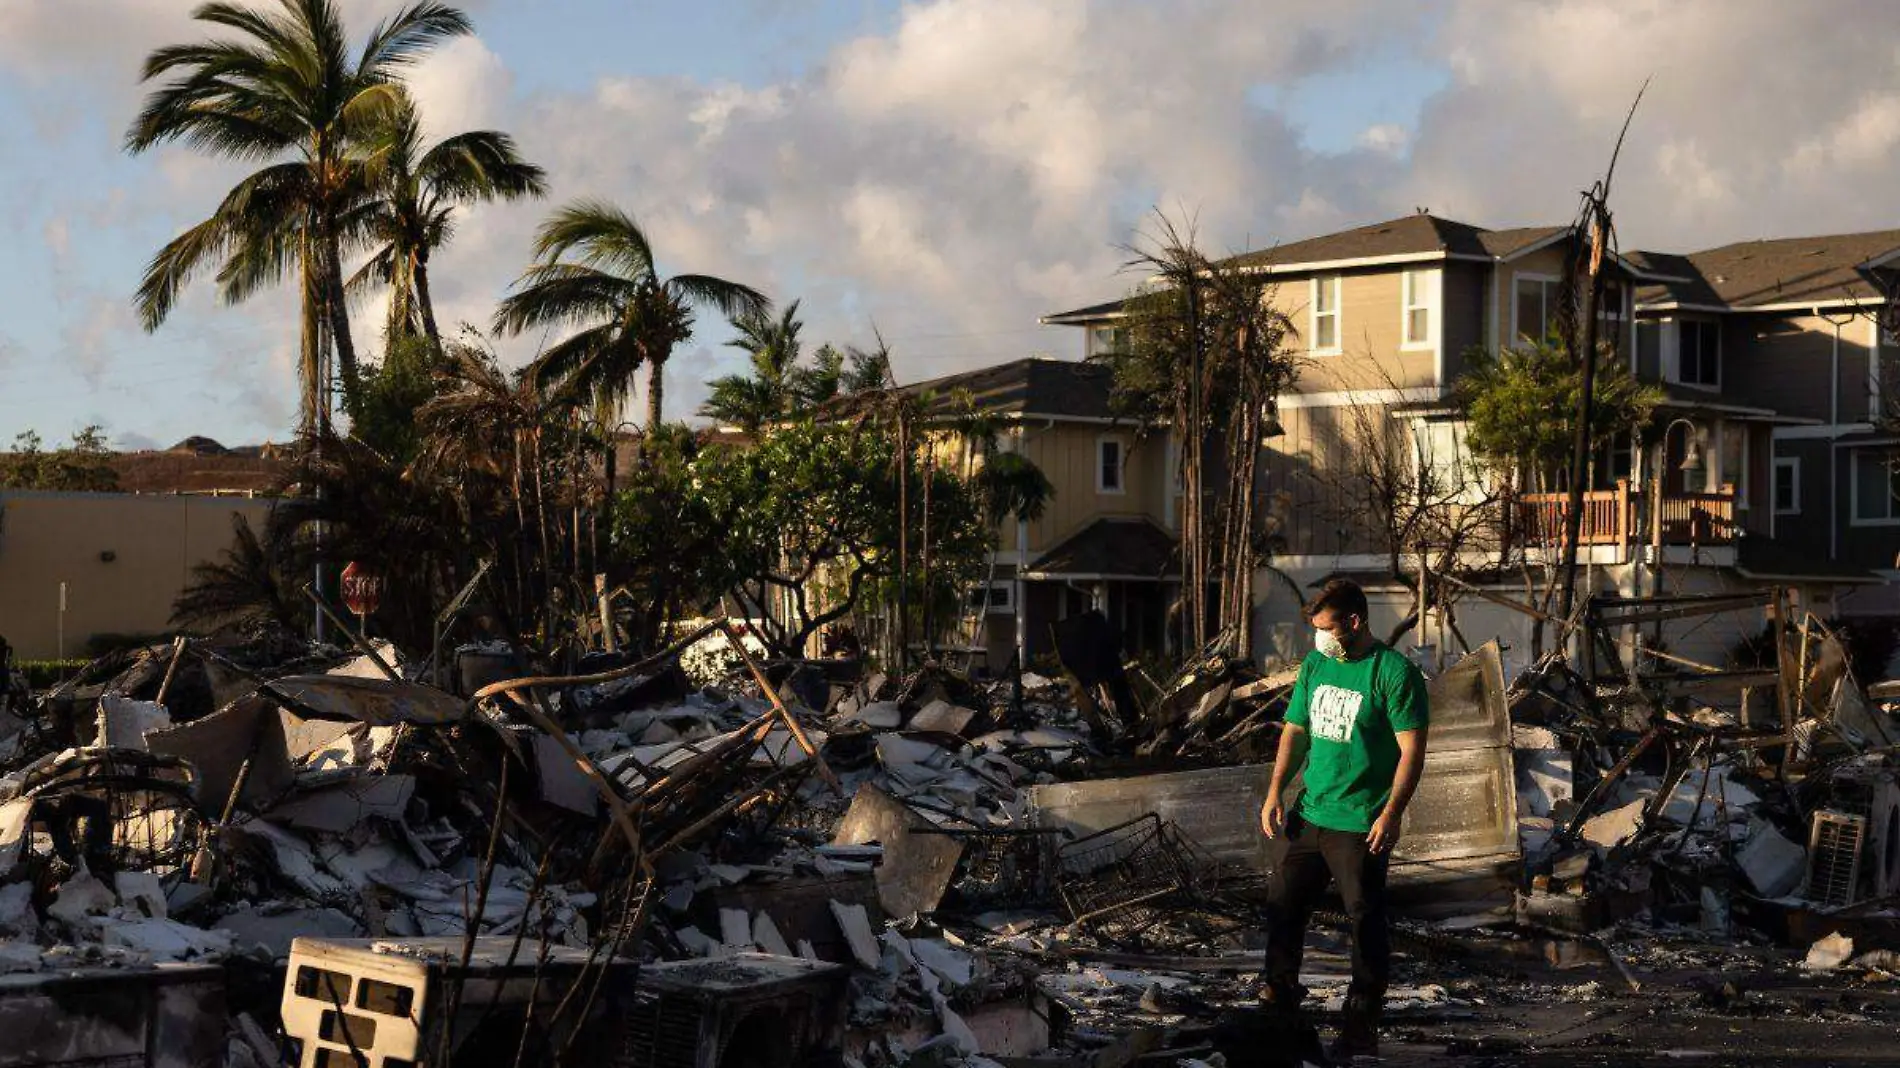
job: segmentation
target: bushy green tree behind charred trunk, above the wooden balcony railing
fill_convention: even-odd
[[[1522,488],[1562,488],[1575,448],[1583,365],[1562,344],[1509,348],[1495,357],[1467,353],[1457,395],[1469,418],[1471,452]],[[1590,447],[1604,448],[1649,422],[1662,391],[1630,374],[1607,346],[1594,376]]]

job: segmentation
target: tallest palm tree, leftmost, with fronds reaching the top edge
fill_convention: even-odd
[[[209,219],[160,249],[139,285],[148,331],[179,293],[218,262],[224,302],[298,274],[302,296],[302,422],[321,429],[321,329],[334,344],[344,401],[357,380],[342,251],[365,238],[369,188],[352,148],[393,106],[395,78],[435,44],[471,30],[467,15],[416,0],[376,25],[350,53],[336,0],[217,2],[192,17],[234,36],[160,48],[142,82],[160,82],[125,133],[129,152],[182,143],[213,156],[272,162],[249,175]]]

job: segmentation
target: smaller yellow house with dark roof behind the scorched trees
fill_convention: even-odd
[[[946,435],[958,416],[986,414],[996,447],[1026,456],[1054,488],[1039,517],[996,532],[996,572],[971,604],[992,669],[1018,637],[1030,658],[1053,652],[1051,625],[1091,608],[1129,654],[1167,648],[1180,597],[1172,447],[1165,429],[1140,435],[1115,418],[1106,367],[1030,357],[901,390],[923,397]]]

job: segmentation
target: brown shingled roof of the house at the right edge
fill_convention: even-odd
[[[1900,253],[1900,230],[1737,241],[1683,257],[1636,253],[1655,274],[1674,276],[1636,291],[1636,302],[1748,310],[1885,300],[1875,272],[1883,272],[1881,260],[1894,253]]]

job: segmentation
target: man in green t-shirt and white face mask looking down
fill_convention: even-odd
[[[1366,593],[1334,580],[1307,606],[1315,650],[1300,663],[1260,829],[1273,840],[1262,1000],[1296,1013],[1305,927],[1328,874],[1353,922],[1353,984],[1334,1058],[1378,1057],[1391,971],[1385,868],[1425,766],[1425,677],[1372,637]],[[1305,770],[1288,811],[1286,781]]]

